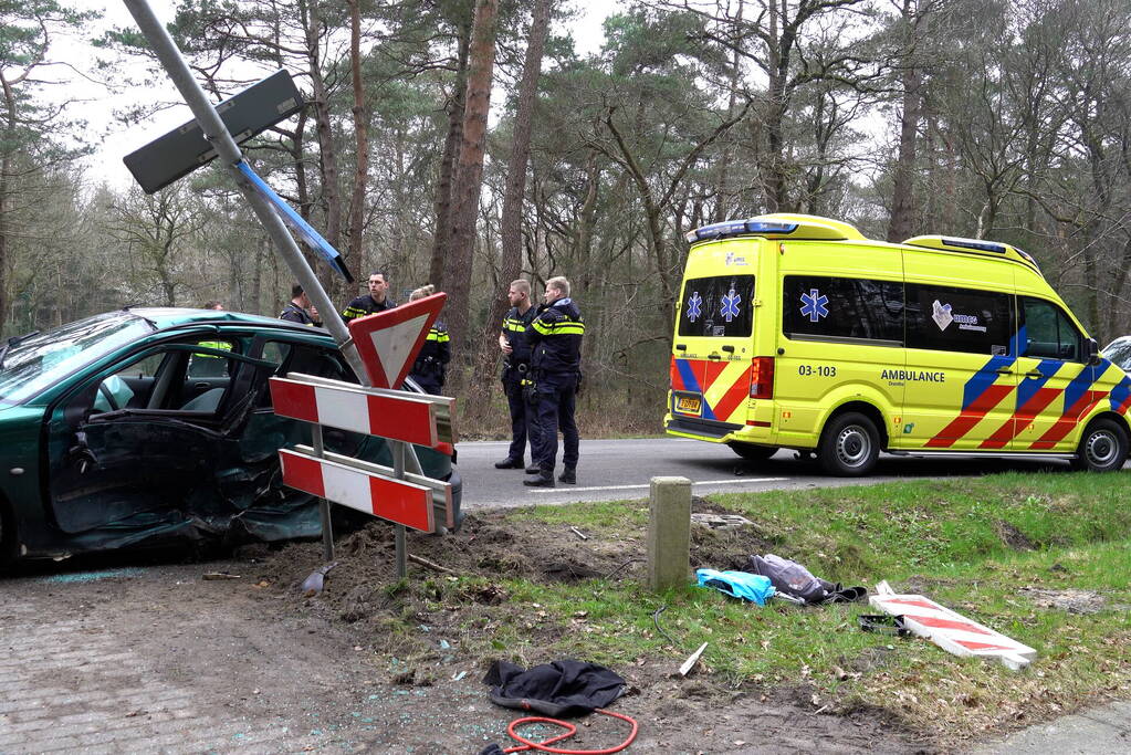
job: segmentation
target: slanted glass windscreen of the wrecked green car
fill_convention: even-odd
[[[0,366],[0,406],[21,403],[67,375],[153,332],[141,318],[107,312],[19,341]]]

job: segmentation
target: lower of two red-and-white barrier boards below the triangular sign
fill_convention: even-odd
[[[435,530],[432,491],[327,459],[279,451],[283,483],[423,532]]]

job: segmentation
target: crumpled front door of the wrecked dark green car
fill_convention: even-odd
[[[94,537],[114,544],[92,545],[114,547],[223,524],[231,436],[270,365],[219,349],[228,366],[204,376],[192,368],[200,348],[188,340],[135,353],[51,409],[50,501],[63,531],[109,527]]]

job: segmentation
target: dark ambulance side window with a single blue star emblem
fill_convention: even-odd
[[[787,338],[903,346],[904,285],[892,280],[786,276],[782,330]]]

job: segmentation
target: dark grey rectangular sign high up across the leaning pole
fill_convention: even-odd
[[[280,70],[219,103],[216,113],[236,144],[242,144],[291,118],[302,105],[302,95],[291,73]],[[152,194],[215,157],[215,148],[205,139],[200,124],[192,120],[130,153],[122,162],[141,189]]]

